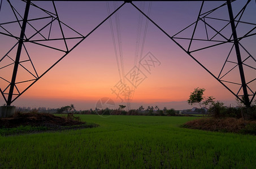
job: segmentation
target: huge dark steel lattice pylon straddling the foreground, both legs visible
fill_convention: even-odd
[[[2,5],[2,1],[3,0],[0,0],[1,1],[1,5]],[[30,88],[34,83],[36,83],[41,77],[43,77],[47,72],[49,72],[50,69],[52,69],[56,64],[59,63],[59,61],[61,61],[64,57],[66,57],[74,48],[76,48],[81,42],[83,42],[90,34],[92,34],[96,29],[99,28],[99,26],[101,26],[103,23],[105,23],[106,20],[108,20],[112,15],[115,14],[115,12],[117,12],[118,10],[120,10],[120,8],[122,8],[126,3],[129,3],[131,4],[134,8],[136,8],[136,10],[138,10],[142,15],[144,15],[149,21],[151,21],[151,23],[153,23],[155,26],[157,26],[157,28],[159,30],[161,30],[164,34],[167,35],[167,37],[169,37],[174,43],[176,43],[177,46],[179,46],[184,52],[186,52],[186,54],[188,54],[190,57],[192,57],[192,59],[194,61],[196,61],[200,66],[202,66],[203,69],[205,69],[210,75],[212,75],[212,77],[214,77],[219,83],[221,83],[225,88],[227,88],[227,90],[229,90],[234,96],[237,97],[237,99],[239,99],[240,101],[242,101],[246,106],[250,106],[251,102],[253,101],[254,97],[255,97],[255,94],[256,94],[256,91],[255,91],[255,86],[254,88],[251,88],[249,87],[249,84],[251,84],[252,82],[254,82],[256,80],[256,78],[254,79],[251,79],[251,81],[249,82],[246,82],[246,79],[245,79],[245,73],[244,73],[244,68],[243,66],[247,66],[248,68],[251,68],[251,69],[254,69],[256,70],[256,68],[254,68],[254,66],[251,66],[251,65],[248,65],[248,64],[245,64],[245,61],[248,60],[248,59],[253,59],[255,62],[255,58],[253,55],[251,55],[248,50],[246,50],[246,48],[244,46],[242,46],[242,44],[240,43],[240,41],[244,38],[247,38],[247,37],[251,37],[253,35],[255,35],[256,33],[253,33],[253,31],[256,29],[256,24],[255,23],[248,23],[248,22],[244,22],[244,21],[241,21],[241,17],[242,17],[242,14],[244,13],[248,3],[250,2],[250,0],[248,0],[248,2],[245,4],[244,7],[242,7],[241,11],[238,12],[238,14],[234,17],[233,16],[233,12],[232,12],[232,6],[231,6],[231,0],[217,0],[217,1],[224,1],[225,3],[223,3],[223,5],[217,7],[217,8],[214,8],[210,11],[207,11],[207,12],[204,12],[202,13],[202,8],[203,8],[203,4],[204,4],[204,1],[202,1],[202,5],[201,5],[201,8],[199,10],[199,14],[198,14],[198,17],[197,17],[197,20],[188,25],[186,28],[184,28],[183,30],[180,30],[180,32],[174,34],[174,35],[170,35],[168,34],[165,30],[163,30],[155,21],[153,21],[149,16],[147,16],[143,11],[140,10],[140,8],[138,8],[136,5],[134,5],[134,3],[132,3],[132,1],[124,1],[124,3],[122,5],[120,5],[118,8],[116,8],[116,10],[114,12],[112,12],[109,16],[106,17],[106,19],[104,19],[101,23],[99,23],[91,32],[89,32],[88,34],[86,35],[83,35],[79,32],[77,32],[76,30],[72,29],[70,26],[68,26],[67,24],[64,24],[62,21],[60,21],[59,19],[59,16],[58,16],[58,12],[57,12],[57,9],[55,7],[55,4],[54,2],[55,1],[64,1],[64,0],[21,0],[23,2],[25,2],[27,5],[26,5],[26,8],[25,8],[25,12],[24,12],[24,17],[21,17],[21,15],[19,14],[19,12],[15,9],[14,6],[12,6],[10,0],[6,0],[9,4],[10,4],[10,7],[12,8],[12,11],[14,12],[14,15],[16,17],[16,21],[10,21],[10,22],[7,22],[7,23],[0,23],[0,28],[2,28],[4,31],[0,32],[0,34],[2,35],[6,35],[8,37],[12,37],[14,39],[16,39],[18,42],[7,52],[6,55],[4,56],[1,56],[2,58],[0,58],[0,63],[1,61],[3,61],[4,59],[10,59],[12,61],[11,64],[7,64],[5,66],[2,66],[0,67],[0,70],[3,69],[3,68],[6,68],[8,66],[11,66],[11,65],[14,65],[14,69],[13,69],[13,73],[12,73],[12,79],[11,81],[8,81],[8,79],[6,78],[3,78],[2,75],[0,74],[0,80],[2,79],[2,81],[4,82],[7,82],[8,85],[4,88],[1,88],[0,87],[0,92],[3,96],[3,98],[5,99],[6,101],[6,104],[7,105],[11,105],[16,99],[18,99],[19,96],[21,96],[25,91],[28,90],[28,88]],[[53,3],[53,6],[54,6],[54,12],[50,12],[50,11],[47,11],[43,8],[40,8],[38,7],[37,5],[35,5],[33,3],[33,1],[51,1]],[[66,0],[68,1],[68,0]],[[76,1],[85,1],[85,0],[76,0]],[[173,1],[182,1],[182,0],[173,0]],[[196,0],[196,1],[200,1],[200,0]],[[208,1],[214,1],[214,0],[208,0]],[[29,7],[30,6],[33,6],[33,7],[36,7],[38,9],[40,9],[41,11],[44,11],[45,14],[47,15],[46,17],[39,17],[39,18],[36,18],[36,19],[28,19],[28,13],[29,13]],[[229,12],[229,20],[225,20],[225,19],[219,19],[219,18],[214,18],[214,17],[210,17],[209,15],[218,10],[219,8],[223,7],[223,6],[227,6],[227,10]],[[0,8],[1,10],[1,8]],[[239,16],[240,15],[240,16]],[[21,18],[21,19],[19,19]],[[31,21],[34,21],[34,20],[43,20],[43,19],[51,19],[51,21],[49,23],[47,23],[45,26],[43,26],[41,29],[36,29],[34,28],[34,26],[30,23]],[[220,30],[216,30],[215,28],[212,27],[211,24],[207,23],[206,19],[212,19],[212,20],[219,20],[219,21],[225,21],[227,22],[227,24]],[[22,25],[20,25],[20,22],[23,22]],[[53,25],[53,23],[57,21],[58,22],[58,25],[59,25],[59,28],[60,28],[60,32],[62,34],[62,38],[50,38],[50,34],[51,34],[51,26]],[[197,26],[198,26],[198,23],[199,22],[202,22],[204,25],[205,25],[205,30],[206,30],[206,34],[207,34],[207,39],[198,39],[198,38],[194,38],[194,34],[197,30]],[[5,29],[5,25],[8,25],[8,24],[12,24],[12,23],[18,23],[19,26],[20,26],[20,29],[21,29],[21,32],[20,32],[20,36],[19,37],[16,37],[14,34],[12,34],[8,29]],[[241,37],[238,37],[237,36],[237,33],[236,33],[236,27],[239,23],[243,23],[243,24],[250,24],[250,25],[253,25],[254,28],[251,29],[249,32],[247,32],[246,34],[244,34],[243,36]],[[35,31],[36,33],[34,33],[33,35],[31,35],[30,37],[28,37],[27,34],[25,34],[25,28],[26,28],[26,25],[29,25],[31,26]],[[231,37],[227,37],[225,36],[223,33],[222,33],[222,30],[227,28],[228,25],[231,25],[231,28],[232,30],[231,31]],[[47,26],[50,26],[50,30],[49,30],[49,35],[46,37],[46,35],[43,35],[42,34],[42,30],[44,30]],[[72,32],[75,32],[77,34],[76,37],[65,37],[64,33],[63,33],[63,29],[62,29],[62,26],[66,26],[68,29],[70,29]],[[194,26],[194,27],[193,27]],[[191,28],[193,27],[193,33],[191,35],[191,37],[187,37],[187,38],[184,38],[184,37],[179,37],[180,33],[184,32],[186,29],[188,28]],[[215,35],[213,37],[209,37],[209,34],[207,32],[207,28],[208,29],[211,29],[211,30],[214,30],[215,32]],[[41,36],[41,39],[34,39],[34,37],[36,35],[40,35]],[[219,36],[219,37],[222,37],[222,40],[216,40],[215,37],[216,36]],[[233,38],[232,38],[233,37]],[[79,42],[77,42],[74,46],[72,47],[68,47],[67,45],[67,40],[69,39],[77,39],[79,40]],[[183,39],[183,40],[187,40],[189,41],[189,45],[188,45],[188,48],[184,47],[183,45],[181,45],[179,42],[177,42],[177,40],[179,39]],[[63,41],[65,46],[66,46],[66,49],[62,49],[62,48],[57,48],[57,47],[53,47],[53,46],[50,46],[50,45],[45,45],[44,43],[41,43],[41,42],[46,42],[46,41]],[[197,41],[201,41],[201,42],[214,42],[215,44],[214,45],[210,45],[210,46],[206,46],[206,47],[201,47],[201,48],[197,48],[196,50],[191,50],[191,46],[194,42],[197,42]],[[36,44],[36,45],[40,45],[40,46],[44,46],[44,47],[47,47],[47,48],[51,48],[53,50],[57,50],[57,51],[60,51],[60,52],[63,52],[63,56],[60,57],[59,60],[57,60],[52,66],[50,66],[49,69],[47,69],[44,73],[42,73],[41,75],[38,75],[37,71],[36,71],[36,68],[34,67],[33,65],[33,62],[31,60],[31,57],[29,56],[29,52],[27,51],[27,48],[25,47],[27,43],[33,43],[33,44]],[[219,75],[214,75],[212,72],[210,72],[209,69],[206,68],[205,65],[203,65],[202,63],[200,63],[196,57],[194,57],[192,54],[194,52],[197,52],[197,51],[202,51],[202,50],[205,50],[207,48],[211,48],[211,47],[215,47],[215,46],[220,46],[220,45],[223,45],[225,43],[231,43],[233,44],[232,48],[231,48],[231,51],[232,49],[235,47],[235,50],[236,50],[236,56],[237,56],[237,63],[234,62],[234,61],[230,61],[228,60],[229,58],[229,55],[231,54],[231,51],[229,52],[228,56],[227,56],[227,59],[225,60],[225,63],[222,67],[222,70],[220,70],[220,73]],[[9,55],[9,53],[14,50],[14,48],[16,48],[18,46],[18,49],[17,49],[17,52],[16,52],[16,59],[12,59]],[[27,60],[23,60],[23,61],[20,61],[20,54],[21,54],[21,49],[24,48],[23,50],[25,50],[25,52],[27,53],[28,55],[28,59]],[[247,54],[248,54],[248,57],[246,57],[246,59],[242,60],[241,59],[241,52],[240,52],[240,48],[242,48]],[[23,63],[31,63],[32,67],[33,67],[33,72],[31,72],[30,70],[28,70],[27,68],[25,68],[25,66],[23,65]],[[230,69],[227,73],[224,73],[223,75],[223,69],[225,67],[225,65],[227,63],[233,63],[233,64],[236,64],[232,69]],[[18,66],[21,66],[22,68],[24,68],[25,70],[27,70],[27,72],[29,74],[31,74],[33,76],[33,79],[29,79],[27,81],[21,81],[21,82],[16,82],[16,74],[18,72]],[[235,69],[236,67],[238,66],[239,70],[240,70],[240,78],[241,78],[241,83],[237,83],[237,82],[231,82],[231,81],[225,81],[223,78],[230,72],[232,72],[233,69]],[[16,86],[16,84],[20,84],[20,83],[25,83],[25,82],[32,82],[31,84],[29,84],[29,86],[27,88],[25,88],[23,91],[19,91],[19,88]],[[231,83],[231,84],[236,84],[236,85],[239,85],[240,86],[240,89],[238,91],[232,91],[231,88],[229,88],[227,86],[227,83]],[[7,90],[9,89],[9,92],[7,93]],[[16,91],[18,91],[18,93],[15,93],[14,94],[14,89],[16,89]],[[243,95],[240,94],[240,91],[243,91]],[[250,92],[250,94],[249,94]],[[6,95],[8,95],[8,97],[6,97]],[[12,98],[13,96],[16,96],[14,99]],[[250,97],[250,99],[249,99]]]

